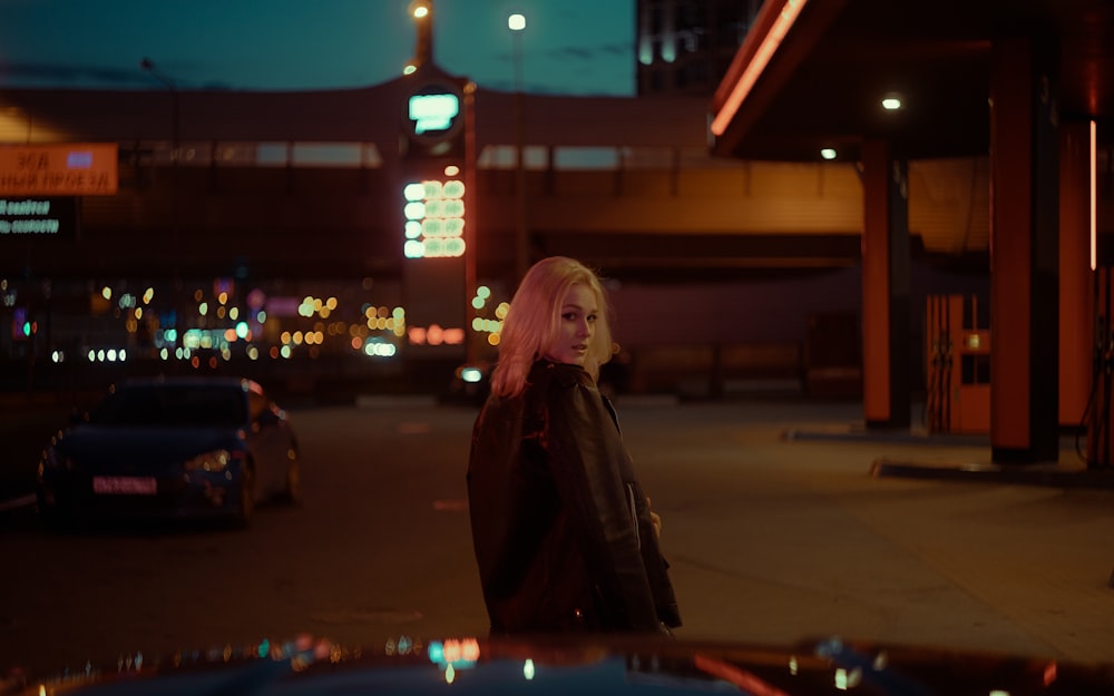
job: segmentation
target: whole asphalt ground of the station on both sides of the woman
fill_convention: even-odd
[[[888,480],[878,457],[977,448],[786,441],[858,404],[618,403],[680,637],[839,635],[1083,660],[1114,646],[1114,493]],[[465,468],[475,410],[296,410],[304,501],[247,530],[49,535],[0,517],[0,673],[115,665],[300,634],[381,649],[486,633]]]

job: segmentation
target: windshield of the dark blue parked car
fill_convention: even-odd
[[[101,425],[153,428],[237,427],[245,420],[241,389],[193,384],[121,388],[89,414]]]

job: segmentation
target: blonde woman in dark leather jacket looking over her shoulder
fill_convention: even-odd
[[[606,297],[577,261],[534,265],[510,303],[468,467],[492,633],[668,633],[681,625],[615,413]]]

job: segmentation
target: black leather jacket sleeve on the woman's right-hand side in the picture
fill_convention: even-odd
[[[659,630],[643,563],[636,512],[624,481],[628,454],[618,429],[583,371],[559,373],[550,385],[547,448],[569,523],[584,545],[610,628]]]

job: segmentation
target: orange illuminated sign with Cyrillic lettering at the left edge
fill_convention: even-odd
[[[115,143],[0,145],[0,196],[111,196]]]

